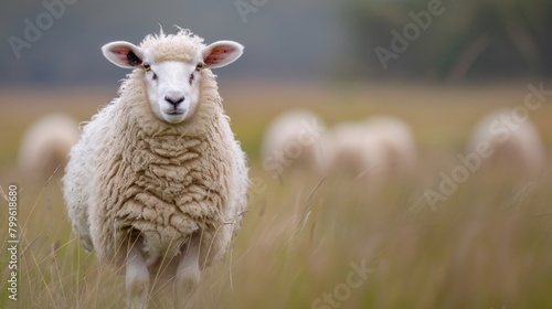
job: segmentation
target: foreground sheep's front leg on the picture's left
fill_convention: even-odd
[[[149,292],[149,270],[138,246],[132,246],[127,257],[126,288],[130,308],[146,308]]]

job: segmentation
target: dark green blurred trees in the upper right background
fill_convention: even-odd
[[[410,12],[435,0],[347,0],[343,20],[354,55],[344,65],[360,76],[466,81],[552,75],[552,1],[445,0],[444,12],[383,70],[374,49],[390,50],[391,30],[402,33]],[[433,3],[435,4],[435,3]]]

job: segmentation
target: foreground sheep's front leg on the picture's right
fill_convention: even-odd
[[[200,281],[200,244],[199,241],[192,237],[185,251],[182,252],[182,257],[177,269],[177,287],[191,291]]]

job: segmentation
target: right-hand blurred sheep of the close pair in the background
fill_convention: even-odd
[[[338,124],[325,137],[328,172],[381,180],[412,173],[416,161],[410,127],[390,116]]]

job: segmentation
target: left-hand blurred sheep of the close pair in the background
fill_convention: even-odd
[[[291,166],[316,171],[321,166],[321,119],[308,110],[291,110],[277,117],[266,130],[262,146],[263,168],[275,178]]]

